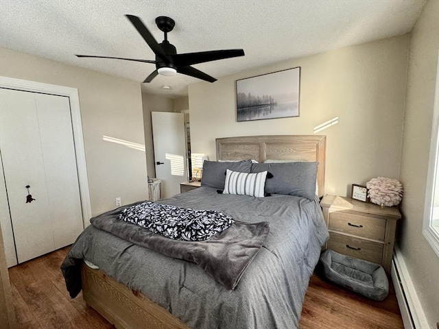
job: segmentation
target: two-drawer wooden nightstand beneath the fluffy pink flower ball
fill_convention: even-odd
[[[327,248],[378,263],[390,275],[398,208],[336,195],[324,196],[320,206],[329,230]]]

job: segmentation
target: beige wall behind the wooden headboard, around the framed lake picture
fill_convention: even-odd
[[[399,178],[410,35],[289,60],[189,86],[191,147],[215,159],[215,138],[313,134],[334,117],[327,135],[326,193],[351,184]],[[237,122],[235,81],[301,66],[300,117]]]

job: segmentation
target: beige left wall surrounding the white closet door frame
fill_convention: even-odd
[[[102,140],[144,143],[139,83],[3,48],[0,75],[78,88],[93,215],[147,197],[143,151]]]

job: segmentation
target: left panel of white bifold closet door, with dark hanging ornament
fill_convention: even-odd
[[[35,96],[1,89],[0,150],[19,263],[54,249]],[[26,203],[27,189],[35,201]]]

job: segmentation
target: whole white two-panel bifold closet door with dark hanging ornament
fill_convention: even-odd
[[[83,229],[69,98],[0,89],[0,128],[10,221],[22,263],[69,245]]]

